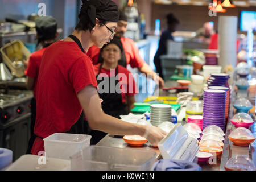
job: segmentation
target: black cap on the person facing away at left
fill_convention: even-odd
[[[57,22],[52,16],[41,16],[36,19],[36,34],[38,44],[44,40],[55,39],[57,32]]]

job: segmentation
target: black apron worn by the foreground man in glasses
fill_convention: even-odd
[[[77,43],[77,45],[79,46],[79,48],[81,49],[81,51],[85,53],[84,48],[82,48],[81,42],[79,41],[79,39],[76,38],[76,36],[69,35],[69,38],[74,40]],[[31,105],[31,107],[32,107],[32,105]],[[69,131],[66,131],[64,133],[85,134],[84,128],[85,128],[84,127],[84,111],[82,111],[77,122],[71,127],[71,129]],[[39,136],[35,135],[34,130],[33,130],[33,134],[28,142],[28,149],[27,149],[26,154],[31,154],[31,150],[32,150],[32,147],[33,147],[36,137],[39,137]],[[42,137],[39,137],[39,138],[43,139]]]

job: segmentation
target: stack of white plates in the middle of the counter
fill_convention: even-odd
[[[150,122],[154,126],[160,125],[162,122],[172,120],[172,106],[167,104],[150,105]]]

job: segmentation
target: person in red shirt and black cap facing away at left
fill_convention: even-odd
[[[46,48],[55,42],[58,36],[57,22],[52,16],[42,16],[36,19],[36,38],[38,43],[43,47],[36,52],[31,53],[28,60],[28,66],[25,70],[26,84],[28,90],[33,90],[34,97],[31,100],[31,135],[34,133],[35,119],[36,119],[36,85],[39,73],[39,66]]]

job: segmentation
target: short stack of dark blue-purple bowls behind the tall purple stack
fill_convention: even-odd
[[[207,81],[208,86],[226,86],[228,84],[229,75],[226,73],[212,73]]]

